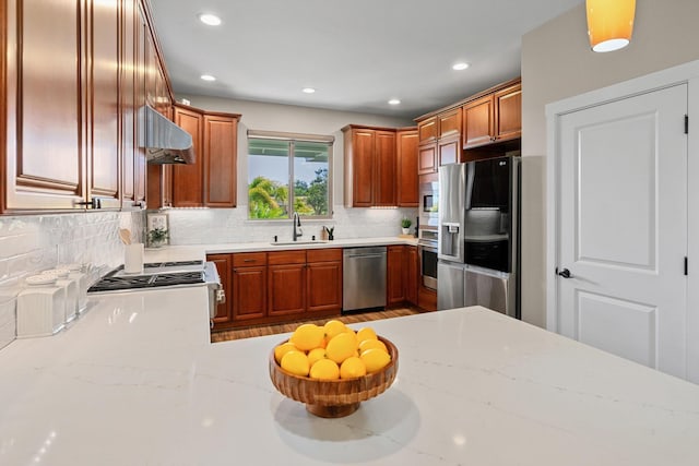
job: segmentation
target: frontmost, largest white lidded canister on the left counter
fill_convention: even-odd
[[[66,290],[51,274],[26,278],[27,288],[17,295],[17,338],[49,336],[63,328]]]

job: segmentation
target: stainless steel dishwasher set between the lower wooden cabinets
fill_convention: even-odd
[[[342,311],[386,307],[386,247],[346,248],[342,261]]]

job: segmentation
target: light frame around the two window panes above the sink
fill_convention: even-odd
[[[321,134],[305,134],[305,133],[287,133],[281,131],[258,131],[258,130],[248,130],[247,133],[247,142],[248,142],[248,151],[247,157],[248,160],[250,158],[250,140],[275,140],[275,141],[286,141],[288,142],[288,208],[286,217],[277,217],[277,218],[251,218],[250,217],[250,198],[248,194],[248,220],[251,222],[286,222],[294,217],[294,200],[296,198],[295,186],[296,186],[296,176],[294,172],[294,160],[295,156],[295,144],[297,142],[311,142],[311,143],[322,143],[328,145],[328,215],[299,215],[304,219],[313,220],[313,219],[332,219],[333,216],[333,146],[335,143],[334,136],[321,135]],[[250,177],[250,165],[248,164],[247,174],[246,174],[246,186],[250,186],[250,182],[247,181]]]

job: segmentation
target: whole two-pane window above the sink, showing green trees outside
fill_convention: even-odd
[[[248,131],[251,219],[332,214],[332,136]]]

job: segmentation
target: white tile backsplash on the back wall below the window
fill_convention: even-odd
[[[266,242],[274,236],[280,241],[292,239],[292,220],[250,220],[247,205],[238,208],[171,208],[168,215],[170,244],[214,244],[232,242]],[[401,234],[402,217],[413,220],[416,208],[345,208],[334,206],[333,218],[304,219],[304,240],[315,235],[321,239],[322,227],[334,227],[335,239],[393,237]]]

